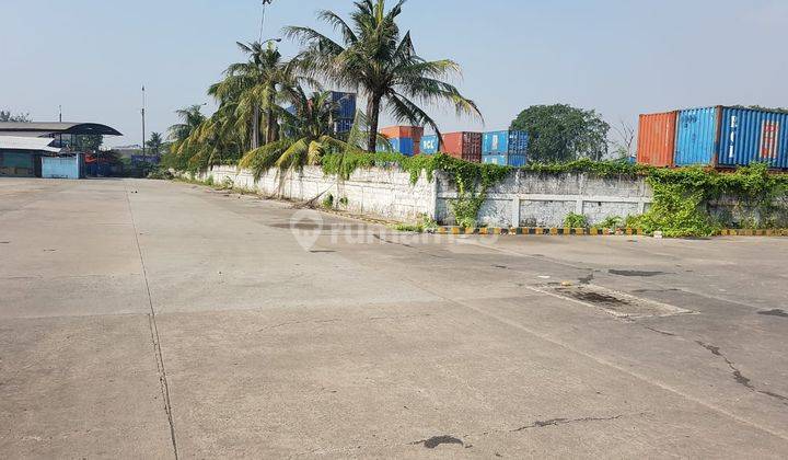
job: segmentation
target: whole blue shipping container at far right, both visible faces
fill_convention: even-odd
[[[675,164],[788,168],[788,114],[704,107],[679,112]]]

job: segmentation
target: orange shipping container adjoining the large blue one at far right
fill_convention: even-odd
[[[679,112],[640,115],[637,161],[652,166],[672,166]]]

